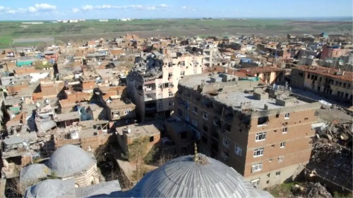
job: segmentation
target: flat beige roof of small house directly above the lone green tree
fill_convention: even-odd
[[[131,132],[125,132],[127,129],[130,129]],[[131,124],[127,126],[120,126],[115,128],[116,132],[119,135],[126,134],[129,138],[136,138],[136,137],[144,137],[144,136],[152,136],[152,135],[159,135],[160,131],[153,123],[140,123],[140,124]]]

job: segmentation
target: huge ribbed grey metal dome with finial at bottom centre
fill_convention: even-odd
[[[234,169],[199,154],[207,164],[193,161],[193,155],[179,157],[155,171],[141,189],[143,198],[256,198],[256,189]]]

